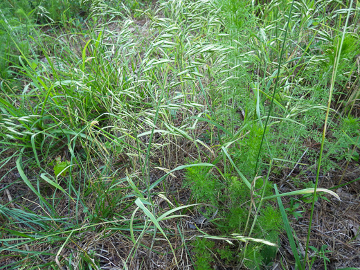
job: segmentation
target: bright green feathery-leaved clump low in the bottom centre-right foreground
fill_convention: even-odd
[[[249,189],[237,177],[226,176],[222,181],[209,170],[208,168],[192,167],[188,168],[186,173],[185,186],[190,188],[193,199],[197,203],[211,206],[200,208],[199,213],[206,219],[216,216],[210,222],[222,235],[249,234],[247,224],[253,222],[253,217],[249,217],[251,210],[249,204],[251,201],[258,203],[257,198],[251,198]],[[270,183],[264,186],[260,180],[255,183],[253,188],[259,192],[266,189],[264,195],[272,195]],[[214,215],[215,212],[216,215]],[[253,237],[277,243],[278,235],[282,231],[279,210],[269,202],[262,206],[260,213],[253,228]],[[244,260],[246,267],[260,267],[271,264],[276,255],[275,247],[269,247],[262,243],[249,244],[247,249],[241,245],[231,248],[230,246],[215,248],[214,242],[210,240],[197,240],[192,244],[194,245],[193,252],[197,269],[211,269],[211,265],[215,265],[217,260],[230,266],[240,265]]]

